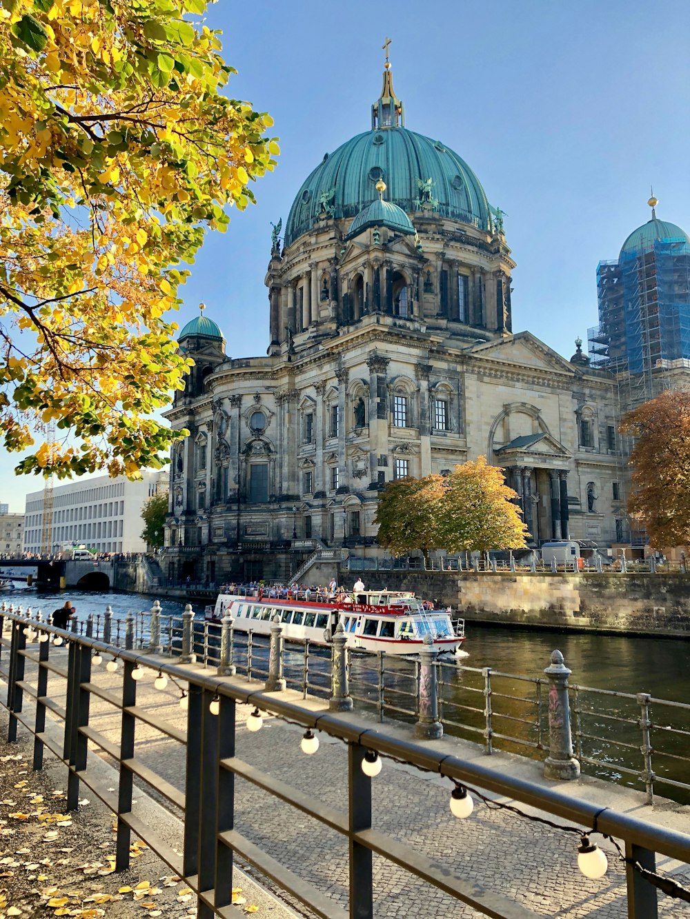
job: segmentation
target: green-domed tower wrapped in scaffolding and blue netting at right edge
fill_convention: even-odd
[[[589,332],[591,365],[619,377],[625,409],[690,379],[690,237],[648,203],[651,220],[597,267],[599,326]]]

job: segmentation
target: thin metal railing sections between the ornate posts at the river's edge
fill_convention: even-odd
[[[0,615],[5,611],[9,611],[6,604],[0,604]],[[17,609],[24,617],[30,618],[30,612]],[[238,631],[231,617],[223,624],[195,618],[190,605],[180,617],[164,615],[156,601],[150,613],[128,613],[124,619],[114,617],[108,607],[103,615],[74,620],[72,626],[75,634],[90,634],[116,648],[180,655],[203,667],[224,667],[224,672],[232,668],[249,680],[270,676],[269,636]],[[280,629],[275,640],[279,644],[275,678],[301,692],[303,698],[329,698],[331,650],[286,639]],[[355,709],[374,714],[380,722],[386,718],[419,722],[420,660],[351,648],[345,648],[343,655]],[[478,668],[435,653],[430,666],[437,699],[433,720],[443,732],[480,743],[487,754],[507,750],[546,760],[551,746],[548,702],[554,686],[549,675]],[[568,689],[572,756],[582,772],[644,789],[650,803],[655,788],[657,794],[661,788],[666,798],[690,801],[690,704],[577,684]]]

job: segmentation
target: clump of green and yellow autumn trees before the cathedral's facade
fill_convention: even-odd
[[[379,543],[396,555],[420,549],[448,552],[523,549],[527,528],[502,469],[486,457],[455,466],[448,476],[389,482],[374,523]]]

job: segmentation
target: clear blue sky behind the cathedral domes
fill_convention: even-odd
[[[407,127],[459,153],[507,214],[514,331],[570,357],[596,323],[597,263],[649,220],[651,183],[658,216],[690,231],[682,0],[219,0],[207,23],[238,71],[228,94],[269,111],[282,148],[254,186],[258,205],[207,236],[183,289],[180,326],[204,301],[232,357],[266,352],[270,221],[284,226],[323,154],[369,129],[386,36]],[[42,480],[13,481],[16,461],[0,456],[0,501],[20,511]]]

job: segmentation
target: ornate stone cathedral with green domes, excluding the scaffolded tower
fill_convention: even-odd
[[[314,551],[381,552],[386,482],[485,455],[531,542],[625,529],[615,379],[512,331],[503,214],[442,140],[409,130],[386,60],[371,128],[297,191],[266,274],[266,357],[225,353],[202,311],[167,412],[167,574],[288,578]],[[219,317],[221,318],[221,317]],[[307,575],[308,577],[308,575]]]

